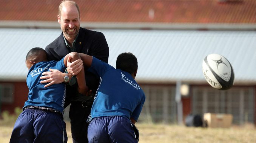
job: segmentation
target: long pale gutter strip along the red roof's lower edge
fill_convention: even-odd
[[[88,29],[144,29],[144,30],[256,30],[255,23],[123,23],[81,22]],[[60,29],[56,21],[0,21],[0,28]]]

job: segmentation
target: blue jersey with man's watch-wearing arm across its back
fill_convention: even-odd
[[[49,87],[44,87],[47,83],[40,83],[42,81],[40,80],[42,73],[49,71],[49,69],[58,69],[64,72],[66,69],[64,58],[60,61],[36,63],[29,69],[27,75],[28,100],[25,102],[23,109],[28,106],[39,106],[63,112],[66,91],[65,83],[52,84]]]

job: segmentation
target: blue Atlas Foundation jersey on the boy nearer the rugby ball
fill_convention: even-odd
[[[137,120],[145,102],[145,94],[131,74],[115,69],[93,57],[90,72],[101,77],[91,109],[91,117],[123,116]]]

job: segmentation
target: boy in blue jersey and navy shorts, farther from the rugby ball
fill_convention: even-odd
[[[42,48],[32,48],[26,56],[26,66],[29,69],[27,85],[28,100],[23,112],[19,115],[12,131],[10,143],[66,143],[66,124],[63,120],[66,84],[40,83],[40,77],[45,71],[58,69],[65,72],[71,62],[82,61],[78,53],[72,52],[60,61],[47,61],[46,52]],[[87,92],[83,66],[77,69],[78,91]],[[66,74],[63,80],[68,82]]]

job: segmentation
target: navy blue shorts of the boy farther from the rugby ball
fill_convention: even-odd
[[[25,109],[14,124],[10,143],[66,143],[66,123],[62,114]]]

